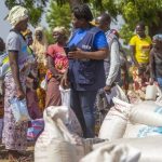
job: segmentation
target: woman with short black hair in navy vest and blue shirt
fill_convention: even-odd
[[[98,89],[105,86],[104,58],[108,53],[105,33],[90,24],[92,19],[86,4],[73,8],[76,30],[68,42],[69,69],[62,80],[66,87],[70,81],[70,106],[81,123],[84,137],[94,137],[94,103]]]

